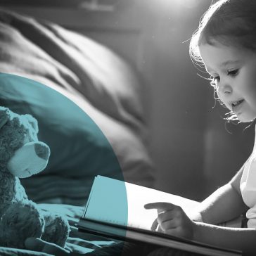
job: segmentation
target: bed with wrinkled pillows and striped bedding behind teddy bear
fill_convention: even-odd
[[[42,210],[62,212],[73,226],[97,174],[154,186],[140,83],[93,39],[0,9],[0,105],[36,117],[51,148],[44,172],[22,180]],[[67,244],[85,254],[111,243],[73,228]],[[0,255],[47,254],[1,247]]]

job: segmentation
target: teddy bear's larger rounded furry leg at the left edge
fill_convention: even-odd
[[[44,216],[30,200],[11,203],[1,218],[0,230],[1,245],[25,248],[26,238],[40,238],[44,232]]]

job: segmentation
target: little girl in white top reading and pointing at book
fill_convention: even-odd
[[[219,100],[231,111],[229,119],[255,120],[256,1],[219,0],[212,4],[193,34],[190,53],[209,73]],[[162,232],[256,255],[256,145],[235,177],[200,203],[192,218],[169,203],[145,207],[161,212],[157,222]],[[215,226],[243,212],[248,228]],[[160,255],[160,250],[154,255]],[[161,255],[172,255],[171,250]]]

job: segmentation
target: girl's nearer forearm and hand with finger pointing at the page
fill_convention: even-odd
[[[226,228],[195,222],[181,207],[171,203],[148,203],[145,207],[159,210],[160,232],[221,248],[241,250],[244,256],[256,255],[256,229]]]

